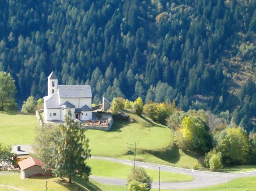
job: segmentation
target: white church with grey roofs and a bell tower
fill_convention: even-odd
[[[58,85],[58,78],[52,72],[48,76],[48,96],[44,97],[44,120],[64,121],[68,109],[73,119],[91,120],[91,86]]]

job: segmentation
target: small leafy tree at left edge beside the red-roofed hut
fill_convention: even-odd
[[[0,143],[0,168],[2,168],[2,165],[5,164],[13,164],[13,158],[16,155],[12,153],[12,148],[11,146],[6,146],[2,143]]]

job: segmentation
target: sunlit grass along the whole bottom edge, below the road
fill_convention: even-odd
[[[45,191],[45,183],[48,180],[48,191],[128,191],[125,186],[114,186],[97,183],[90,180],[76,180],[81,187],[76,184],[68,184],[59,178],[53,177],[34,177],[21,180],[19,174],[1,175],[0,184],[11,185],[26,191]],[[184,191],[256,191],[256,177],[244,177],[234,179],[228,183],[220,185],[201,188],[201,189],[186,189]],[[0,187],[0,190],[7,191],[5,188]],[[152,189],[152,191],[158,191],[158,189]],[[164,191],[173,191],[171,189],[164,189]]]

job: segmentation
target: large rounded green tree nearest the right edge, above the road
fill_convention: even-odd
[[[249,141],[241,127],[226,128],[214,135],[216,150],[222,153],[226,164],[245,164],[249,154]]]

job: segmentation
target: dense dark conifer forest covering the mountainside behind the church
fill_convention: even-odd
[[[90,84],[95,103],[175,99],[251,128],[255,10],[256,0],[2,0],[0,71],[22,99],[45,96],[53,70],[60,84]]]

